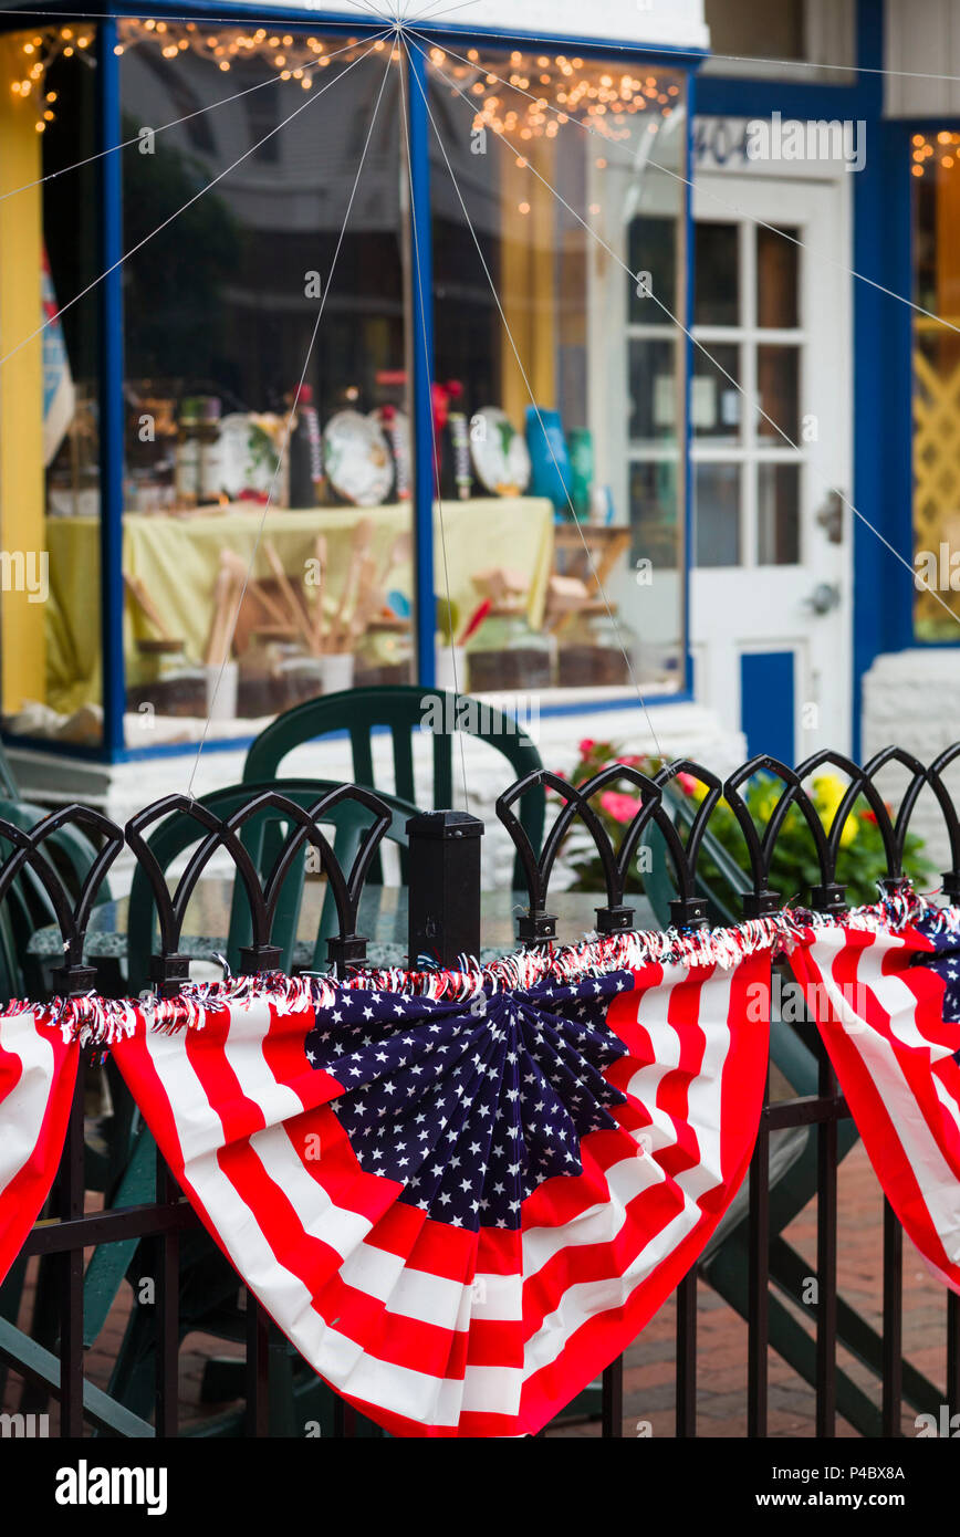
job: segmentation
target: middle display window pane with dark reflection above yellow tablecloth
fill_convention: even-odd
[[[398,60],[265,28],[120,40],[126,736],[191,739],[211,709],[249,735],[411,679]]]

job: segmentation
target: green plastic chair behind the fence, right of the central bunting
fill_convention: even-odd
[[[663,805],[680,830],[688,830],[697,807],[672,785],[666,788]],[[657,922],[668,927],[669,902],[677,895],[671,873],[666,839],[655,824],[649,824],[640,841],[649,850],[649,870],[643,875],[646,896]],[[708,919],[714,925],[740,922],[740,899],[752,891],[745,870],[717,841],[705,833],[702,858],[720,871],[723,888],[697,879],[700,896],[706,898]],[[783,971],[785,979],[789,971]],[[820,1037],[815,1024],[791,1024],[771,1016],[771,1062],[780,1070],[797,1097],[815,1096],[820,1088]],[[852,1119],[837,1127],[837,1160],[860,1140]],[[808,1127],[785,1128],[769,1136],[769,1279],[794,1303],[806,1308],[806,1282],[811,1262],[803,1259],[783,1237],[794,1217],[817,1194],[817,1137]],[[738,1191],[703,1251],[698,1268],[703,1277],[743,1319],[749,1317],[749,1190]],[[883,1339],[843,1297],[837,1297],[837,1340],[878,1379],[883,1376]],[[780,1297],[769,1299],[769,1342],[792,1369],[815,1385],[817,1342],[802,1328]],[[903,1363],[903,1397],[915,1409],[937,1414],[942,1393],[914,1366]],[[880,1436],[883,1422],[877,1405],[840,1368],[837,1368],[837,1411],[862,1436]]]

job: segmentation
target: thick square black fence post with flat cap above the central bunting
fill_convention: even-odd
[[[409,964],[480,954],[480,839],[469,812],[423,812],[409,835]]]

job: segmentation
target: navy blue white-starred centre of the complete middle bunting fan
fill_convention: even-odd
[[[342,990],[306,1056],[360,1167],[451,1227],[518,1228],[522,1202],[580,1174],[580,1140],[625,1104],[603,1073],[626,1053],[606,1024],[626,974],[466,1002]]]

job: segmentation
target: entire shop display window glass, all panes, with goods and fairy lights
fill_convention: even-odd
[[[98,38],[63,23],[0,48],[8,730],[105,741],[105,603],[132,749],[411,681],[406,58],[371,35],[117,20],[123,584],[102,595]],[[685,77],[432,49],[428,78],[437,681],[674,692]],[[765,387],[789,398],[788,375],[771,352]]]

